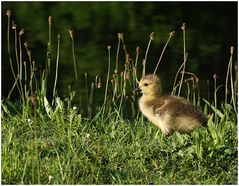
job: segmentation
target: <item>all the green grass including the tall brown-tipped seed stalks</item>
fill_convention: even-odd
[[[8,11],[7,16],[10,23],[11,12]],[[51,21],[52,17],[49,18]],[[47,54],[53,52],[50,23]],[[64,99],[57,95],[60,35],[57,40],[52,100],[47,99],[48,84],[51,81],[50,63],[53,60],[50,59],[51,55],[47,55],[45,69],[38,79],[31,56],[28,56],[30,73],[26,73],[26,66],[23,70],[19,64],[24,61],[23,51],[18,51],[15,46],[15,53],[19,53],[16,55],[17,72],[11,69],[15,82],[8,97],[1,102],[2,184],[236,185],[238,82],[237,72],[232,71],[233,50],[231,48],[225,81],[225,101],[222,101],[221,105],[218,103],[217,93],[222,86],[217,85],[216,78],[213,102],[203,99],[199,95],[197,76],[186,71],[188,57],[185,24],[183,28],[184,59],[176,73],[172,94],[181,95],[184,91],[187,99],[204,110],[209,121],[207,127],[190,135],[176,132],[168,138],[139,113],[139,95],[133,91],[139,76],[145,73],[153,33],[150,35],[141,72],[138,68],[139,48],[137,47],[133,61],[124,43],[123,34],[119,33],[116,68],[112,69],[111,47],[108,46],[106,82],[101,82],[100,76],[96,76],[95,82],[88,82],[85,74],[85,95],[80,98],[75,87],[70,87],[69,96]],[[9,32],[8,28],[9,63],[13,67],[12,59],[15,55],[10,50]],[[13,32],[16,33],[16,28]],[[173,33],[169,34],[154,73]],[[15,36],[14,41],[19,41],[19,46],[22,45],[20,39],[20,36]],[[84,80],[77,78],[73,35],[71,40],[72,66],[77,84],[78,81]],[[125,54],[123,62],[119,58],[121,44]],[[30,54],[30,49],[25,49],[27,54]],[[119,64],[124,64],[122,72],[118,71]],[[51,70],[51,73],[53,71]],[[179,72],[181,79],[178,77]],[[87,85],[91,85],[89,91]],[[102,87],[103,93],[100,89]],[[14,89],[20,94],[19,102],[10,100]],[[96,105],[95,100],[100,92],[104,98],[100,101],[101,104]],[[77,99],[85,101],[78,102],[75,107]]]

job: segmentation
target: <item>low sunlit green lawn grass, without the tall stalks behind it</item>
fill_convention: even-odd
[[[2,184],[237,184],[235,119],[165,138],[117,112],[87,121],[63,102],[50,117],[4,114]]]

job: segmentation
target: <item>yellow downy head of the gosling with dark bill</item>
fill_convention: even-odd
[[[159,95],[160,80],[156,75],[147,75],[141,78],[138,87],[143,95]]]

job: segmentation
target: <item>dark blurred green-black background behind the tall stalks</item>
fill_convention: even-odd
[[[206,80],[210,81],[212,88],[213,74],[218,75],[218,84],[224,84],[230,46],[234,45],[237,51],[237,2],[2,2],[3,97],[8,95],[13,85],[7,54],[8,9],[12,11],[11,17],[18,30],[25,29],[23,42],[29,43],[32,58],[38,65],[46,63],[48,16],[52,16],[52,71],[56,61],[57,35],[61,34],[59,96],[66,95],[68,85],[74,81],[68,29],[74,31],[77,70],[82,86],[85,72],[89,75],[89,81],[94,81],[99,74],[104,82],[108,45],[112,46],[111,70],[114,70],[119,32],[124,33],[127,50],[133,59],[136,47],[140,47],[140,66],[149,35],[155,32],[146,73],[153,72],[169,32],[176,32],[157,71],[164,93],[171,92],[175,74],[183,62],[183,22],[186,23],[186,48],[189,53],[186,70],[200,79],[202,96],[207,96]],[[14,39],[11,36],[13,50]],[[123,70],[123,50],[120,54],[119,65]],[[51,78],[53,84],[54,76]],[[17,91],[13,93],[14,98],[17,98]]]

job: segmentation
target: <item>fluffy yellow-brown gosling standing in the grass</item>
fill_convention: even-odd
[[[174,131],[190,133],[207,124],[206,116],[185,98],[160,96],[160,82],[156,75],[144,76],[137,89],[143,94],[139,99],[141,112],[166,136]]]

